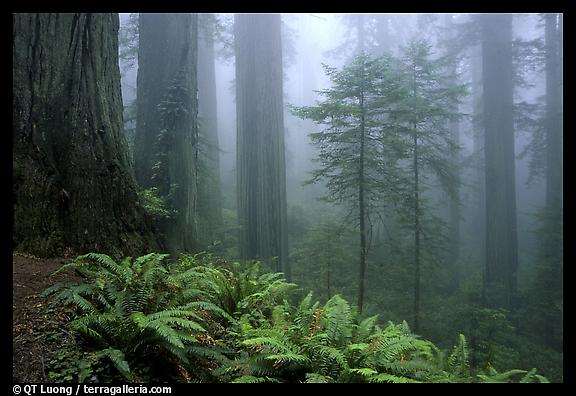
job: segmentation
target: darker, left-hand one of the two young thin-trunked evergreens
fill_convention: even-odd
[[[325,125],[310,134],[319,150],[321,166],[310,182],[325,181],[329,202],[345,204],[355,213],[359,231],[358,308],[364,304],[366,259],[371,214],[383,202],[403,191],[397,164],[389,151],[394,146],[387,119],[401,87],[390,58],[359,55],[341,71],[325,66],[333,86],[320,91],[317,106],[294,107],[294,113]]]

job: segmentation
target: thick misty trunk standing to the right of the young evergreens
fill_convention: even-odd
[[[514,309],[518,267],[514,171],[512,15],[483,14],[486,290],[491,308]]]

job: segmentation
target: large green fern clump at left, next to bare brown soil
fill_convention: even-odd
[[[233,321],[211,302],[208,267],[169,263],[167,256],[151,253],[117,263],[89,253],[55,273],[75,270],[82,282],[56,283],[44,292],[52,304],[74,308],[70,328],[129,381],[191,378],[190,367],[218,360],[213,337]]]

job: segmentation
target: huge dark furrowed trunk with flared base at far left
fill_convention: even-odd
[[[155,247],[122,133],[118,27],[116,14],[13,14],[16,250]]]

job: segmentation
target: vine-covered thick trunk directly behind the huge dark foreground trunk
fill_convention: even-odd
[[[176,214],[163,222],[171,252],[197,248],[196,14],[140,14],[134,164]]]

